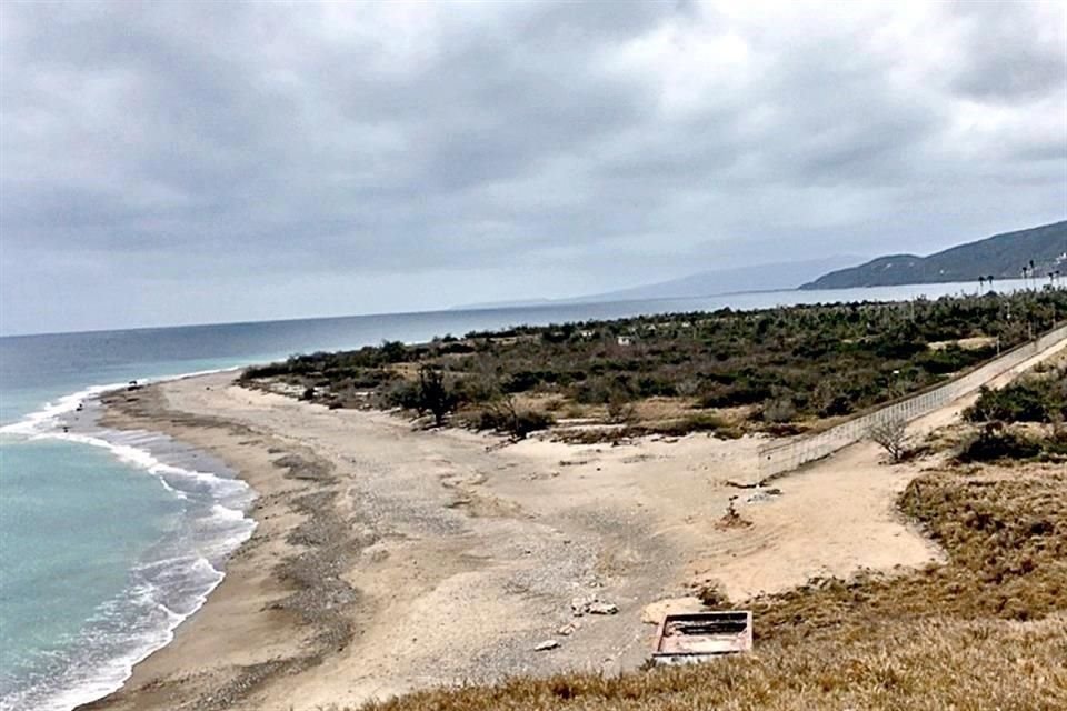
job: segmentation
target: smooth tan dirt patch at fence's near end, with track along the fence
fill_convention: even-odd
[[[1067,352],[1067,341],[994,379],[998,388],[1038,363]],[[916,441],[959,420],[977,393],[911,422]],[[847,577],[859,568],[890,570],[938,561],[941,552],[897,512],[895,502],[923,464],[888,467],[872,442],[859,442],[777,479],[782,494],[737,502],[750,528],[712,540],[690,568],[698,581],[718,582],[732,600],[788,590],[812,577]]]

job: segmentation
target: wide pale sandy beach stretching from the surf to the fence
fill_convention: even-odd
[[[642,611],[654,618],[670,602],[648,605],[701,581],[742,603],[812,575],[940,558],[894,505],[919,468],[880,464],[869,443],[746,503],[752,491],[726,482],[755,481],[752,438],[497,447],[231,378],[171,382],[130,402],[123,393],[110,407],[111,425],[167,431],[240,471],[259,492],[259,528],[174,642],[98,708],[302,711],[505,674],[616,672],[647,655]],[[941,427],[963,404],[913,429]],[[286,454],[310,478],[272,463]],[[750,527],[718,524],[734,495]],[[313,525],[291,538],[309,512]],[[619,613],[576,620],[582,597]],[[577,630],[558,634],[568,622]],[[532,651],[549,638],[560,647]]]

